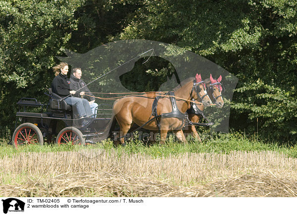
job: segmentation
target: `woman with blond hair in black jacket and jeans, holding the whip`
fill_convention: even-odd
[[[70,80],[67,77],[69,69],[68,64],[65,62],[61,62],[60,64],[52,68],[55,72],[55,77],[53,78],[51,83],[52,92],[62,98],[71,95],[71,97],[67,97],[64,100],[68,105],[76,108],[79,118],[93,115],[88,100],[72,97],[72,95],[75,94],[75,91],[70,90]]]

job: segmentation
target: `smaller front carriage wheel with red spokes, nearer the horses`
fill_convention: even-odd
[[[63,128],[56,139],[56,144],[61,145],[86,145],[83,133],[75,127]]]

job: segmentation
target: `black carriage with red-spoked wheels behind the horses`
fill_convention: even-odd
[[[110,122],[111,108],[98,107],[97,114],[77,119],[72,107],[58,95],[51,92],[49,103],[42,104],[35,98],[22,98],[17,102],[15,130],[12,144],[40,144],[55,138],[57,145],[93,143],[106,132]],[[93,141],[95,138],[95,141]]]

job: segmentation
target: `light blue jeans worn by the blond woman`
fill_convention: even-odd
[[[65,99],[65,102],[68,105],[71,105],[73,109],[76,109],[79,117],[93,115],[90,104],[86,99],[81,99],[77,97],[68,97]]]

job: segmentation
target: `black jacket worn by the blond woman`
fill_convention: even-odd
[[[67,75],[59,73],[55,76],[51,83],[51,90],[60,97],[65,97],[70,94],[70,80]]]

